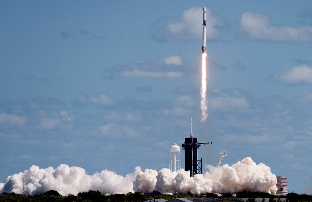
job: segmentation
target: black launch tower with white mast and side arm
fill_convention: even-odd
[[[185,151],[185,171],[191,171],[191,176],[202,174],[202,159],[197,160],[198,147],[201,145],[212,144],[212,142],[199,143],[197,138],[192,134],[192,117],[191,117],[191,134],[185,138],[182,149]]]

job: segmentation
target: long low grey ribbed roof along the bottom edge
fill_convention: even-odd
[[[192,202],[248,202],[249,198],[185,198]],[[255,202],[262,202],[263,198],[253,198]],[[252,199],[252,200],[253,200]],[[168,200],[171,201],[171,200]],[[274,202],[286,202],[286,199],[274,199]],[[270,198],[265,198],[264,202],[270,202]]]

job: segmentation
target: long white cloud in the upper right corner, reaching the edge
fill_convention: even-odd
[[[312,41],[311,26],[272,26],[270,17],[262,13],[244,12],[241,15],[241,31],[252,39],[271,41]]]

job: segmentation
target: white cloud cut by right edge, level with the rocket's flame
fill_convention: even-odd
[[[312,84],[312,67],[307,65],[295,66],[291,70],[281,71],[273,78],[285,84]]]

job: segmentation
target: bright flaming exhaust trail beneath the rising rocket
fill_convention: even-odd
[[[200,88],[200,108],[202,110],[202,117],[201,121],[206,121],[206,118],[208,117],[207,113],[207,95],[206,95],[206,90],[207,90],[207,81],[206,81],[206,57],[207,54],[204,53],[202,54],[202,87]]]

